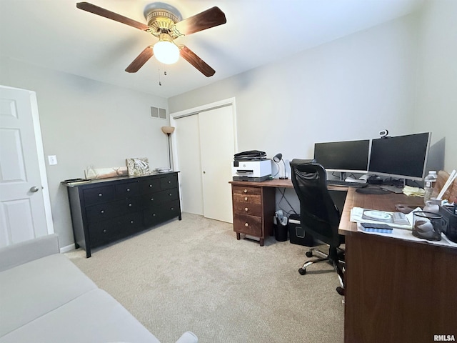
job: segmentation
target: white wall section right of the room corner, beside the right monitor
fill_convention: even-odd
[[[419,35],[417,131],[444,140],[444,169],[457,169],[457,1],[426,1]]]

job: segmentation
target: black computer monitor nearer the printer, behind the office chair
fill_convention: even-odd
[[[366,173],[369,151],[369,139],[315,143],[314,159],[328,172]]]

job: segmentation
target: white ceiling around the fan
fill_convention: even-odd
[[[0,54],[66,73],[170,97],[240,74],[414,11],[423,0],[164,0],[184,19],[213,6],[227,23],[176,39],[216,70],[206,78],[184,59],[151,58],[124,69],[156,38],[71,0],[0,0]],[[150,0],[91,0],[136,21]],[[159,86],[159,68],[161,86]]]

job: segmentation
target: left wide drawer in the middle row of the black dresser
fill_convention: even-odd
[[[141,210],[141,199],[132,198],[118,200],[116,202],[105,202],[86,207],[87,222],[95,223],[106,219],[119,217],[121,214],[137,212]]]

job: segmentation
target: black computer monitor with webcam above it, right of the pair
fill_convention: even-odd
[[[368,174],[421,181],[430,139],[430,132],[373,139]]]

